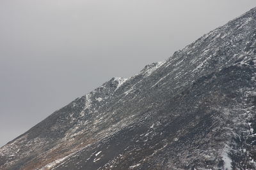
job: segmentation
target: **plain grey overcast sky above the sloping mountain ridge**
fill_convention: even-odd
[[[113,76],[129,77],[255,0],[1,0],[0,146]]]

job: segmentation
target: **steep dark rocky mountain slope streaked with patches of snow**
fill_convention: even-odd
[[[0,148],[0,169],[256,169],[256,8]]]

